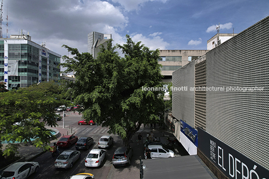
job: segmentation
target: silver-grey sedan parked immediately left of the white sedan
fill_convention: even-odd
[[[80,151],[65,150],[55,160],[55,168],[72,168],[77,159],[81,157]]]

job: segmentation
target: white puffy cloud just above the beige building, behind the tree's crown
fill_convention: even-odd
[[[153,38],[148,38],[143,36],[142,34],[132,34],[130,35],[132,41],[139,42],[141,41],[142,44],[149,47],[151,50],[156,49],[166,49],[170,44],[165,42],[160,36],[155,36]]]

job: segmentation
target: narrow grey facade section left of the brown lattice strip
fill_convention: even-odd
[[[195,61],[192,61],[173,72],[172,76],[174,86],[172,114],[178,120],[184,120],[192,127],[194,127],[194,91],[191,91],[190,88],[194,87],[194,69]]]

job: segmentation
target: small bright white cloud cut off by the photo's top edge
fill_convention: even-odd
[[[168,0],[111,0],[113,3],[119,3],[126,11],[139,10],[143,4],[148,2],[166,3]]]

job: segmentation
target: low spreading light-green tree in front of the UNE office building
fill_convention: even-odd
[[[37,147],[49,148],[51,130],[56,126],[54,107],[61,104],[61,89],[54,82],[0,93],[0,141],[7,141],[4,155],[17,152],[13,143],[33,141]],[[58,99],[56,99],[58,97]]]

